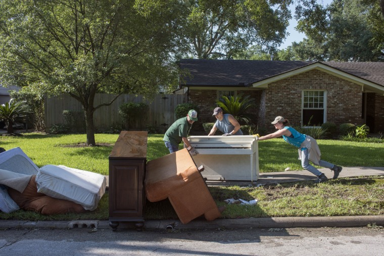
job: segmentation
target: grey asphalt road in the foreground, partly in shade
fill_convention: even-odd
[[[382,255],[384,229],[7,229],[0,255]]]

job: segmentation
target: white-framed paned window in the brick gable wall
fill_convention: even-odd
[[[321,126],[325,122],[326,91],[303,91],[302,125]]]

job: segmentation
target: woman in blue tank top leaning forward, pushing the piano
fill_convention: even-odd
[[[325,182],[328,180],[328,178],[319,170],[317,170],[314,166],[310,165],[309,160],[318,166],[329,168],[331,171],[333,171],[333,179],[339,177],[339,174],[343,168],[341,166],[337,166],[326,161],[320,160],[320,149],[314,138],[298,132],[290,126],[288,120],[280,116],[276,117],[271,124],[275,126],[277,131],[262,137],[256,136],[256,139],[266,140],[282,136],[286,142],[298,147],[299,159],[301,159],[301,166],[317,176],[317,180],[315,181],[316,183]]]

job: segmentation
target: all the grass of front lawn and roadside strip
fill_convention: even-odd
[[[117,134],[96,134],[98,144],[104,146],[74,147],[83,143],[84,134],[45,135],[25,133],[22,137],[0,137],[0,146],[11,149],[21,147],[38,166],[65,165],[108,175],[108,156]],[[148,137],[147,160],[168,153],[163,135]],[[322,159],[342,166],[384,166],[384,144],[341,140],[318,140]],[[72,145],[72,146],[68,146]],[[301,170],[297,150],[282,139],[259,142],[260,172],[283,171],[286,167]],[[384,214],[384,178],[339,178],[322,184],[311,182],[283,183],[262,187],[209,187],[217,204],[226,205],[222,218],[296,217],[296,216],[353,216]],[[259,199],[256,206],[227,205],[223,200],[241,198]],[[146,219],[177,219],[170,202],[146,203]],[[43,216],[19,210],[11,214],[0,213],[1,219],[17,220],[108,220],[108,192],[95,211],[85,214]]]

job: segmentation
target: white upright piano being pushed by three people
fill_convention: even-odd
[[[208,180],[259,179],[258,141],[252,135],[190,136],[188,140],[198,155],[193,159],[204,166]]]

